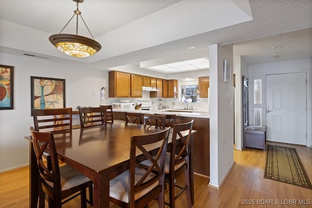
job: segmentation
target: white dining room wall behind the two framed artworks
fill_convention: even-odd
[[[1,64],[14,66],[14,109],[0,110],[0,171],[5,171],[29,164],[29,142],[24,136],[34,125],[30,76],[65,79],[66,107],[75,108],[98,106],[100,89],[108,85],[108,72],[8,54],[0,58]]]

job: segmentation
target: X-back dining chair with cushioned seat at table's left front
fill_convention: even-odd
[[[87,202],[93,206],[93,194],[89,196],[90,200],[86,197],[86,189],[92,190],[93,182],[69,165],[59,166],[53,132],[39,132],[32,126],[30,131],[39,168],[39,208],[44,208],[45,195],[49,208],[61,208],[62,204],[79,195],[81,208],[86,208]],[[45,151],[51,155],[52,170],[42,159]]]

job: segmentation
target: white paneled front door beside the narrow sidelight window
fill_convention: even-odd
[[[307,75],[266,76],[267,141],[307,145]]]

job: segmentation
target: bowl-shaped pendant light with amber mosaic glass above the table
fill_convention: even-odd
[[[97,53],[101,48],[101,44],[94,40],[93,35],[91,34],[87,24],[83,20],[81,16],[81,12],[78,9],[79,3],[82,3],[83,0],[73,0],[77,4],[77,9],[74,11],[74,15],[72,18],[65,24],[65,26],[61,29],[59,34],[51,35],[49,37],[49,41],[61,52],[66,53],[70,56],[75,57],[88,57],[95,53]],[[76,34],[61,34],[61,32],[65,29],[68,23],[74,18],[76,15]],[[79,36],[78,35],[78,16],[81,17],[84,25],[88,29],[92,39]]]

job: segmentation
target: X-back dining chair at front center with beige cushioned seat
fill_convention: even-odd
[[[137,208],[158,198],[158,207],[164,208],[164,168],[170,127],[158,133],[131,137],[130,167],[110,181],[110,200],[120,207]],[[148,145],[162,141],[156,157],[148,152]],[[151,161],[151,166],[137,166],[137,151]],[[156,161],[160,160],[160,165]],[[152,171],[153,170],[153,171]]]

